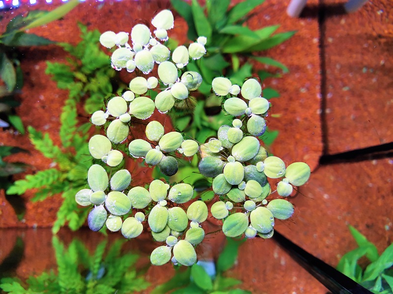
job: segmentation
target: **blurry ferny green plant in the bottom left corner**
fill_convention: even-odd
[[[56,237],[53,237],[52,244],[56,271],[32,275],[26,283],[17,278],[2,278],[0,289],[12,294],[125,294],[148,287],[148,283],[137,276],[134,268],[139,255],[120,253],[124,244],[122,240],[117,240],[110,247],[107,246],[107,241],[101,242],[93,255],[76,239],[68,249]]]

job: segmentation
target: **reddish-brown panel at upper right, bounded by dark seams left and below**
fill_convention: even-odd
[[[393,141],[392,19],[393,2],[383,0],[369,1],[353,14],[326,19],[325,112],[330,154]]]

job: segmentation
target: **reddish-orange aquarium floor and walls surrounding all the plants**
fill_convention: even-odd
[[[339,0],[309,0],[300,18],[289,18],[289,1],[266,0],[248,21],[252,29],[280,24],[279,31],[296,30],[285,43],[264,52],[285,64],[288,73],[253,64],[254,71],[267,69],[281,77],[264,80],[279,96],[272,98],[268,126],[278,131],[270,151],[286,164],[304,161],[311,167],[309,183],[293,197],[295,215],[277,222],[275,229],[311,254],[336,267],[340,257],[356,247],[347,228],[356,227],[374,243],[379,253],[392,243],[392,141],[393,141],[393,4],[374,0],[353,14],[344,14]],[[233,1],[235,3],[235,1]],[[3,9],[1,31],[16,14],[35,9],[53,9],[60,1]],[[88,29],[129,31],[138,20],[149,21],[157,11],[170,8],[168,1],[89,1],[55,21],[30,30],[56,42],[80,42],[78,23]],[[175,14],[170,37],[187,41],[187,25]],[[98,40],[97,40],[98,42]],[[24,87],[18,93],[16,114],[25,126],[48,132],[59,142],[59,114],[68,92],[59,90],[45,73],[46,62],[64,62],[67,53],[54,45],[21,49]],[[87,122],[87,117],[81,117]],[[28,137],[13,128],[0,131],[1,145],[28,149],[7,157],[9,162],[29,164],[28,173],[53,166],[50,159],[32,148]],[[354,151],[354,152],[349,152]],[[17,174],[13,179],[23,178]],[[0,272],[22,280],[57,269],[50,227],[56,219],[61,197],[30,202],[34,191],[21,196],[26,207],[23,219],[0,190]],[[209,224],[214,228],[214,223]],[[147,235],[147,234],[146,234]],[[93,252],[105,239],[83,228],[57,234],[68,246],[74,238]],[[121,239],[108,236],[109,243]],[[198,250],[199,259],[215,260],[225,245],[222,233],[208,235]],[[148,267],[155,248],[149,236],[127,242],[122,252],[140,255],[136,271],[155,286],[174,274],[171,265]],[[253,239],[239,250],[227,276],[241,279],[242,289],[252,293],[326,293],[327,290],[297,265],[274,240]],[[86,272],[87,276],[87,272]]]

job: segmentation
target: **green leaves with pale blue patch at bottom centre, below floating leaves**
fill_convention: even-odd
[[[237,259],[239,246],[245,240],[226,240],[226,245],[216,263],[199,262],[187,269],[176,268],[176,273],[167,283],[156,287],[151,293],[195,293],[195,294],[246,294],[239,289],[242,281],[227,277],[225,272],[231,269]]]

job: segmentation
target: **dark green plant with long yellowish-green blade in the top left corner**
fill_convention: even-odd
[[[5,32],[0,35],[0,78],[5,84],[5,87],[0,88],[0,114],[3,114],[0,127],[8,127],[11,123],[20,133],[25,133],[20,117],[12,111],[13,107],[19,105],[14,96],[23,87],[21,54],[17,49],[55,44],[49,39],[27,33],[26,30],[46,25],[63,17],[78,3],[78,0],[71,0],[51,12],[35,10],[28,12],[27,16],[17,15],[8,23]]]

